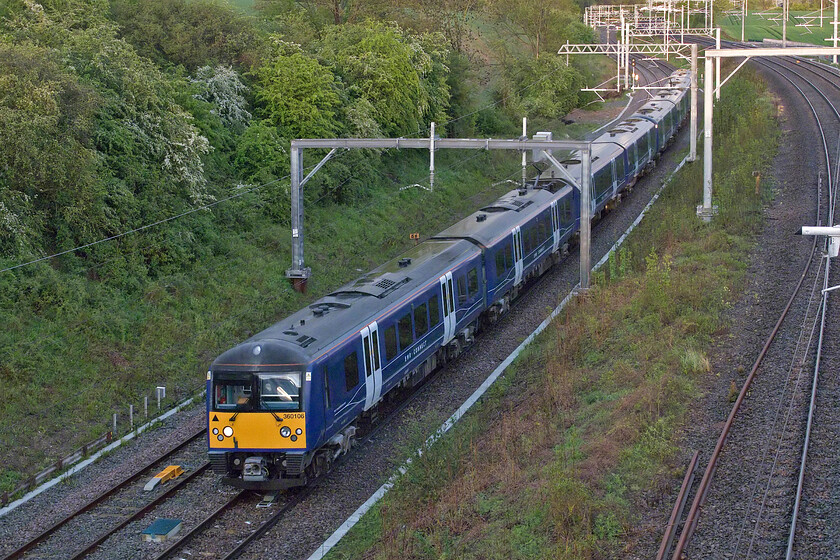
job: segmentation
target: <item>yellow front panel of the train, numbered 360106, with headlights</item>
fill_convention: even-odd
[[[304,412],[210,412],[210,449],[306,449]]]

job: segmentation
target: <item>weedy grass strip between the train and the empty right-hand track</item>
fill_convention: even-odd
[[[720,102],[718,218],[695,216],[702,168],[685,168],[589,294],[330,558],[626,555],[650,490],[679,484],[678,434],[712,379],[707,354],[762,225],[769,191],[750,179],[767,171],[778,130],[754,80],[733,79]]]

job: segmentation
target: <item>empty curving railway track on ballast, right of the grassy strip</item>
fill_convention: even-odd
[[[822,65],[801,60],[757,60],[761,66],[777,73],[798,92],[815,120],[819,131],[817,143],[823,160],[820,177],[824,178],[824,181],[819,182],[819,188],[824,192],[817,198],[828,199],[828,204],[823,205],[824,209],[817,206],[815,219],[818,223],[833,223],[836,179],[831,170],[832,165],[836,165],[837,156],[832,164],[829,139],[840,138],[840,113],[836,103],[840,85],[837,74]],[[826,93],[825,90],[830,91]],[[831,95],[835,96],[835,100],[832,100]],[[821,215],[824,215],[822,219]],[[705,557],[710,550],[715,550],[716,554],[720,554],[718,550],[726,550],[727,558],[736,559],[793,558],[797,557],[797,549],[808,550],[813,546],[808,542],[808,536],[797,529],[797,517],[803,488],[807,496],[806,479],[813,485],[814,479],[820,478],[813,475],[806,477],[809,472],[806,461],[808,434],[812,424],[820,426],[821,422],[819,410],[815,416],[815,403],[820,394],[818,380],[824,349],[822,341],[826,334],[826,306],[821,290],[829,282],[827,260],[822,258],[817,249],[815,239],[799,282],[765,341],[724,423],[703,477],[694,490],[691,509],[673,552],[674,560]],[[815,348],[816,341],[819,344]],[[776,347],[784,347],[786,352],[775,358],[777,363],[765,363],[768,353],[779,353]],[[779,363],[782,361],[785,363]],[[836,365],[836,357],[831,358],[831,361]],[[816,367],[812,365],[814,363]],[[739,433],[735,441],[729,441],[736,418],[743,421],[741,407],[747,396],[754,399],[753,392],[765,391],[753,391],[753,382],[759,372],[763,373],[768,368],[781,368],[782,372],[776,377],[777,387],[772,388],[768,394],[764,404],[766,410],[749,412],[749,418],[760,417],[762,421],[747,420],[745,423],[756,431]],[[838,393],[840,388],[835,392]],[[768,407],[767,403],[770,402],[772,406]],[[742,471],[749,465],[746,469],[752,475],[749,484],[743,483],[743,473],[733,472],[738,470],[738,466],[733,465],[740,465]],[[713,477],[719,468],[725,471],[725,480],[718,481],[715,491],[711,491]],[[840,476],[836,481],[840,482]],[[727,483],[740,487],[727,487]],[[681,499],[682,496],[678,497],[678,502]],[[733,500],[738,503],[733,505]],[[808,501],[806,498],[806,502],[812,504],[813,500]],[[702,519],[704,506],[714,513],[714,519],[708,521],[702,542],[697,543],[692,537]],[[835,511],[834,516],[838,513],[840,511]],[[714,533],[718,533],[717,539],[710,535]],[[663,547],[658,558],[665,557],[665,552]],[[810,554],[802,557],[812,557]]]

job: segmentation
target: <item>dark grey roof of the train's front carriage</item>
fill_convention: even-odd
[[[220,355],[215,369],[299,365],[377,320],[398,303],[480,250],[469,241],[430,239],[255,334]],[[260,352],[254,354],[254,349]]]

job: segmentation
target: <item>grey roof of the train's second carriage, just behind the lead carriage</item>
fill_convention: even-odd
[[[571,189],[571,187],[564,187]],[[558,195],[544,189],[510,191],[497,201],[473,212],[433,239],[468,239],[487,247],[539,213]]]

